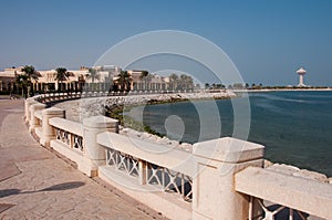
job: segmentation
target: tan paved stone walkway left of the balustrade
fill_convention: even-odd
[[[165,219],[41,147],[23,101],[0,98],[0,219]]]

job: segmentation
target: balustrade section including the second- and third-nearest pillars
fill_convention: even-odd
[[[96,135],[106,130],[117,133],[118,122],[94,116],[81,124],[62,118],[64,115],[64,111],[55,107],[43,111],[41,144],[75,161],[79,170],[87,176],[95,176],[98,166],[105,164],[105,150],[96,143]]]

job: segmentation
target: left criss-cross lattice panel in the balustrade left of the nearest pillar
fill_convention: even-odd
[[[138,159],[115,149],[107,149],[106,163],[127,175],[138,177]]]

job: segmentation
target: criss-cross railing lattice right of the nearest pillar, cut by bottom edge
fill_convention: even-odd
[[[259,206],[259,208],[262,210],[262,213],[256,216],[252,211],[253,205]],[[299,210],[270,203],[268,201],[263,201],[262,199],[250,196],[249,220],[307,220],[309,214]]]

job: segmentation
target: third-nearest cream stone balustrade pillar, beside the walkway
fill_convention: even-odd
[[[44,147],[50,147],[51,139],[55,139],[54,128],[50,125],[50,118],[61,117],[64,118],[64,109],[50,107],[42,111],[43,122],[42,122],[42,137],[40,138],[40,144]]]

